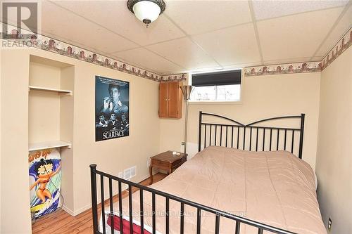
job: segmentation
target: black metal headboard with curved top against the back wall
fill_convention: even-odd
[[[203,122],[203,116],[205,115],[220,118],[230,122],[230,124]],[[303,149],[304,117],[305,114],[272,117],[253,122],[251,124],[241,124],[240,122],[227,117],[203,113],[200,111],[198,151],[201,151],[202,145],[204,148],[210,145],[218,145],[237,148],[240,150],[253,151],[290,150],[291,153],[298,152],[298,157],[301,159]],[[257,125],[262,122],[269,122],[277,119],[301,119],[301,126],[300,128],[288,128],[281,126]],[[298,134],[299,144],[295,145],[294,139]],[[297,146],[298,150],[296,149]]]

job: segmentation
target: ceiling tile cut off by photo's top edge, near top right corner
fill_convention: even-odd
[[[318,11],[325,8],[345,6],[344,1],[253,1],[256,20],[275,18],[284,15],[303,13],[307,11]]]

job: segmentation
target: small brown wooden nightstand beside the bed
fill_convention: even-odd
[[[153,183],[153,167],[167,170],[168,174],[171,174],[173,169],[180,167],[186,161],[187,154],[182,152],[180,155],[172,155],[172,151],[166,151],[151,157],[151,165],[149,166],[151,184]]]

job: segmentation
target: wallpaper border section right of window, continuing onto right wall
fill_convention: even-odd
[[[282,65],[264,65],[256,67],[244,67],[244,76],[260,76],[266,74],[290,74],[321,72],[329,66],[337,57],[341,55],[352,44],[352,28],[350,28],[344,37],[332,48],[327,55],[319,62],[307,63],[287,63]]]

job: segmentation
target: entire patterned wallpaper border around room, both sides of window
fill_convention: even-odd
[[[25,30],[23,30],[25,32]],[[37,38],[38,37],[38,38]],[[34,47],[44,51],[50,51],[83,60],[88,63],[94,63],[103,67],[118,70],[128,74],[134,74],[138,77],[151,79],[154,82],[184,82],[187,81],[188,74],[168,74],[161,75],[156,72],[149,72],[137,66],[132,66],[127,63],[103,56],[99,53],[94,53],[78,46],[67,44],[63,41],[52,39],[41,34],[19,34],[15,29],[12,30],[11,38],[7,39],[13,43],[23,44],[22,47]],[[307,63],[287,63],[277,65],[261,65],[255,67],[244,67],[244,77],[260,76],[268,74],[291,74],[291,73],[307,73],[321,72],[329,66],[337,57],[341,55],[352,44],[352,28],[344,34],[339,42],[332,48],[327,55],[322,58],[322,61],[307,62]]]

